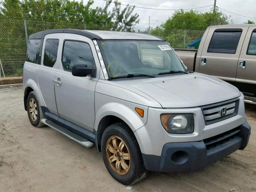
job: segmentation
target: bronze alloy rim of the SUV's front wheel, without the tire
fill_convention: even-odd
[[[130,170],[131,158],[129,150],[124,141],[118,136],[112,136],[106,144],[106,154],[112,169],[125,175]]]

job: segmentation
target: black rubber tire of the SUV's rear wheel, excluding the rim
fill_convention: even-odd
[[[36,108],[37,108],[37,118],[36,120],[32,120],[32,117],[30,116],[30,100],[34,99],[35,103],[36,103]],[[27,112],[28,112],[28,119],[30,120],[30,123],[35,126],[35,127],[43,127],[46,126],[45,124],[43,124],[41,122],[41,120],[44,118],[44,114],[42,112],[41,106],[39,105],[39,102],[36,98],[36,94],[34,91],[30,92],[28,94],[28,99],[27,99]]]

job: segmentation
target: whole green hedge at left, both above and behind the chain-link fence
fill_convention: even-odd
[[[86,4],[77,0],[0,0],[0,59],[6,76],[18,75],[26,60],[26,37],[47,29],[74,28],[88,30],[134,31],[139,22],[138,14],[132,14],[134,6],[121,8],[114,2],[92,8],[93,0]],[[34,58],[29,58],[33,60]]]

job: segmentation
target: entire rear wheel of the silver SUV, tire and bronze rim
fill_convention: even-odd
[[[36,94],[34,91],[30,92],[28,95],[27,111],[28,111],[28,118],[30,120],[30,123],[33,126],[35,127],[45,126],[45,124],[41,122],[41,120],[44,118],[44,114],[38,103],[38,100],[36,98]]]

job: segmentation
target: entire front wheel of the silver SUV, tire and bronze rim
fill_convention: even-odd
[[[106,128],[101,151],[108,172],[118,182],[131,185],[148,175],[138,142],[125,123],[115,123]]]

